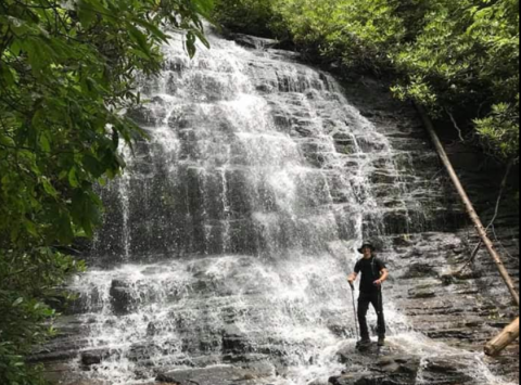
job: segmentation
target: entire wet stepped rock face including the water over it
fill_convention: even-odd
[[[143,85],[131,114],[151,141],[102,191],[97,268],[35,360],[62,385],[490,385],[479,352],[512,309],[485,254],[453,274],[476,241],[415,112],[270,41],[211,39],[193,61],[165,48]],[[516,223],[499,222],[513,273]],[[345,275],[367,238],[391,271],[391,345],[360,355]]]

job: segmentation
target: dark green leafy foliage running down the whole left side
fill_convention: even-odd
[[[41,384],[24,361],[84,266],[66,255],[100,222],[93,187],[118,176],[139,128],[135,75],[162,65],[164,30],[204,40],[212,0],[0,1],[0,384]]]

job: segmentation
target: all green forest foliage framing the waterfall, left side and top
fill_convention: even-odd
[[[505,165],[519,163],[514,0],[0,0],[0,383],[43,384],[26,363],[55,331],[102,217],[96,185],[144,133],[123,114],[138,72],[162,68],[171,30],[207,46],[203,18],[274,37],[314,63],[392,82]]]

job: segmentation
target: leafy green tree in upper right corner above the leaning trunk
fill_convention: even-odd
[[[519,5],[517,1],[435,1],[414,41],[390,57],[393,88],[439,116],[458,113],[483,147],[519,157]]]

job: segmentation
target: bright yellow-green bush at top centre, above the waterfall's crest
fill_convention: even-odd
[[[387,0],[285,0],[276,5],[298,46],[312,46],[345,68],[376,69],[404,36]]]

